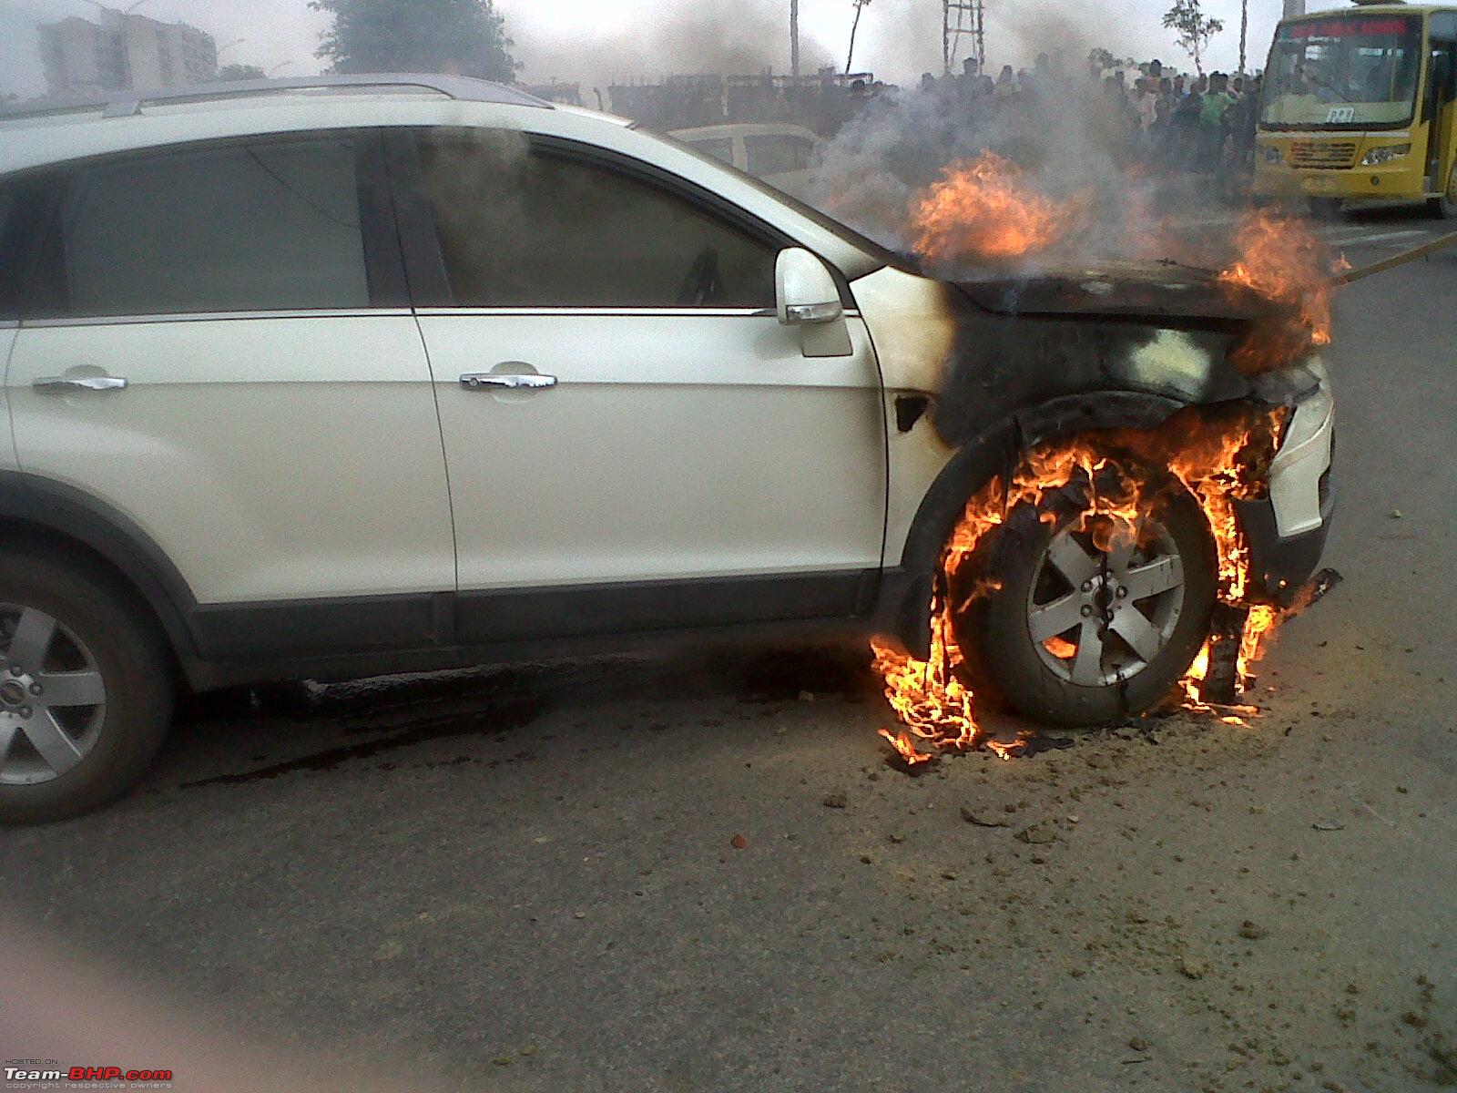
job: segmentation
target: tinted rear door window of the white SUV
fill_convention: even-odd
[[[54,235],[68,315],[369,306],[348,138],[82,168]]]

